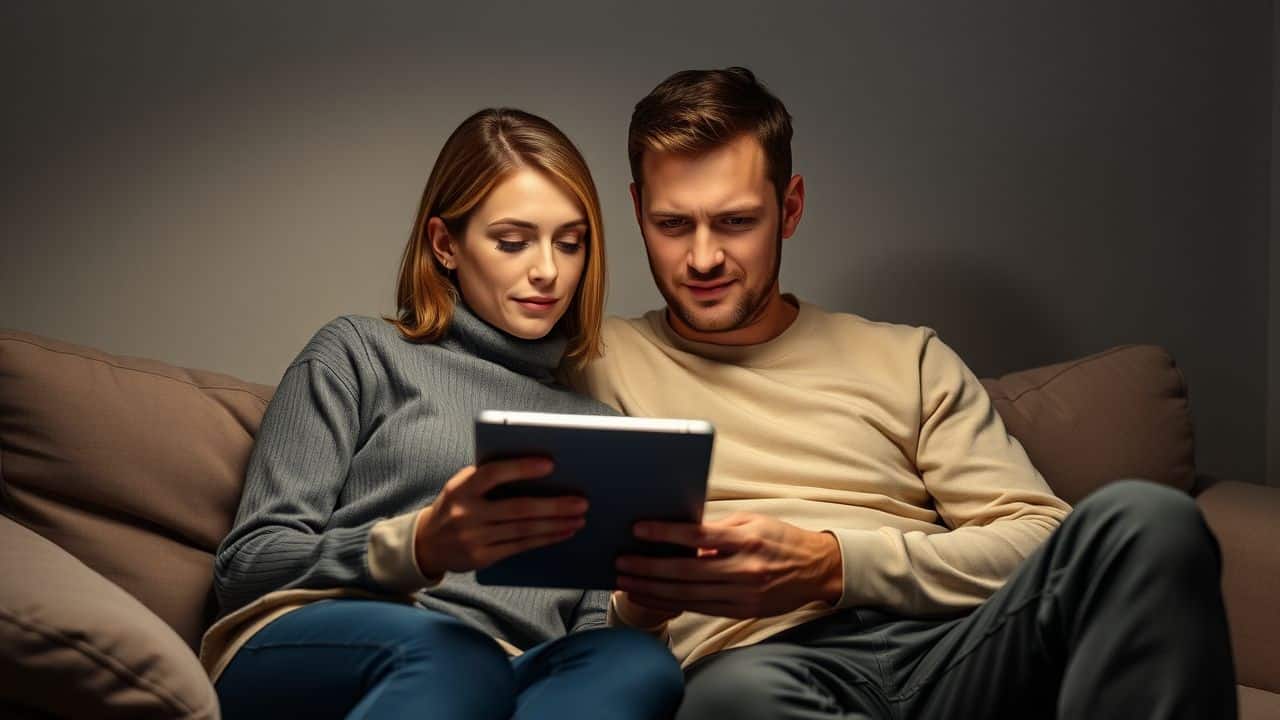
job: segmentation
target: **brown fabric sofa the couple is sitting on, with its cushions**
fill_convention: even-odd
[[[1197,474],[1170,355],[1115,347],[983,383],[1069,502],[1135,477],[1196,497],[1222,548],[1240,716],[1280,717],[1280,488]],[[195,648],[271,392],[0,332],[0,716],[219,716]]]

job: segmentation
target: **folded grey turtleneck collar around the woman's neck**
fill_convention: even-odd
[[[453,305],[453,320],[440,345],[535,380],[550,382],[568,340],[558,327],[538,340],[518,338],[484,322],[460,300]]]

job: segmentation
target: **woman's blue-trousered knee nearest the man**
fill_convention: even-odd
[[[511,665],[517,720],[669,717],[685,693],[685,678],[671,651],[626,628],[545,642]]]

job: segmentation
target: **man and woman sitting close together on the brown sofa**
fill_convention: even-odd
[[[585,160],[481,110],[397,316],[338,318],[285,370],[215,562],[227,717],[1234,716],[1189,497],[1123,482],[1073,512],[933,332],[781,293],[805,187],[749,70],[671,76],[627,145],[664,309],[603,320]],[[621,557],[612,593],[476,584],[586,511],[486,500],[549,470],[470,465],[486,409],[713,421],[705,521],[635,528],[696,557]]]

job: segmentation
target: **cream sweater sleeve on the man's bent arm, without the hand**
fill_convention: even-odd
[[[923,332],[915,464],[947,530],[831,528],[845,571],[841,607],[910,615],[972,609],[1070,511],[1009,436],[978,378]]]

